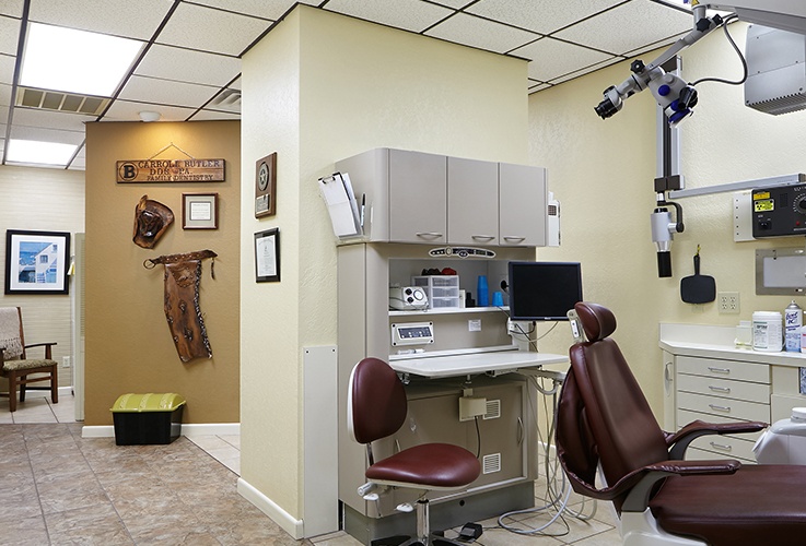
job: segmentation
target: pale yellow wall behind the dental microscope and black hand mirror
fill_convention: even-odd
[[[731,29],[744,45],[746,25]],[[687,81],[740,78],[722,33],[682,57]],[[655,204],[655,104],[646,92],[629,98],[606,121],[593,111],[601,91],[628,74],[623,62],[529,97],[529,159],[549,168],[549,186],[562,210],[562,247],[540,249],[538,257],[582,261],[585,298],[616,313],[615,339],[662,420],[658,323],[733,325],[749,320],[755,310],[782,311],[791,298],[755,294],[754,253],[757,248],[803,247],[803,238],[734,242],[731,193],[682,199],[686,230],[673,244],[674,276],[658,278],[649,219]],[[703,83],[698,90],[694,115],[680,124],[687,188],[806,171],[806,112],[757,112],[744,106],[741,86]],[[681,301],[680,278],[693,273],[697,245],[701,273],[714,276],[717,290],[740,293],[740,314],[719,314],[714,302]],[[796,300],[806,307],[805,298]],[[541,348],[564,353],[570,344],[568,329],[558,328]]]

